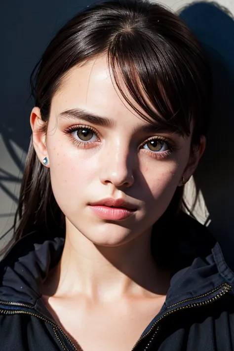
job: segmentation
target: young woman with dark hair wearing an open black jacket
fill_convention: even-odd
[[[156,3],[96,3],[35,73],[0,350],[233,350],[234,273],[182,210],[211,92],[193,34]]]

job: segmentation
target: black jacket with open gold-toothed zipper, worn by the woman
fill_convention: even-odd
[[[206,234],[195,228],[196,237]],[[0,263],[0,351],[76,350],[39,293],[63,244],[62,237],[32,233]],[[136,342],[134,351],[234,350],[234,273],[218,243],[173,274],[165,304]]]

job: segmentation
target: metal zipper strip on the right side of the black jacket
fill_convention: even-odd
[[[136,344],[134,345],[134,347],[132,348],[131,351],[135,351],[136,347],[139,345],[139,343],[144,340],[147,336],[149,336],[150,333],[153,332],[153,330],[155,329],[154,333],[152,334],[151,339],[149,340],[148,344],[145,346],[145,349],[143,351],[147,351],[153,340],[156,337],[156,334],[159,330],[159,325],[158,323],[164,319],[165,317],[167,317],[168,315],[177,312],[177,311],[181,311],[181,310],[185,310],[185,309],[190,309],[190,308],[194,308],[194,307],[201,307],[201,306],[206,306],[209,305],[215,301],[217,301],[218,299],[220,299],[222,296],[224,296],[225,294],[227,294],[230,290],[232,289],[232,286],[226,282],[220,284],[219,286],[217,286],[215,289],[212,289],[210,291],[208,291],[207,293],[195,296],[193,298],[188,298],[185,300],[181,300],[173,305],[170,305],[167,307],[167,312],[163,313],[151,326],[151,328],[144,334],[142,335],[138,341],[136,342]],[[217,292],[217,293],[216,293]],[[212,294],[216,293],[214,296],[211,296]],[[199,302],[196,302],[197,300],[203,299],[208,297],[208,299],[206,300],[201,300]],[[195,301],[195,302],[194,302]],[[186,304],[188,303],[189,304]],[[184,305],[186,304],[186,305]],[[180,305],[180,306],[179,306]],[[174,308],[175,307],[175,308]],[[172,310],[171,310],[172,309]]]

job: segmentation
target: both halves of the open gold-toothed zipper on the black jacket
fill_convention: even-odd
[[[167,312],[165,312],[164,314],[162,314],[151,326],[151,328],[144,334],[142,335],[138,341],[136,342],[136,344],[134,345],[134,347],[132,348],[131,351],[135,351],[136,347],[138,346],[138,344],[144,340],[150,333],[152,333],[152,331],[155,329],[151,339],[149,340],[148,344],[145,346],[144,351],[147,351],[154,338],[156,337],[156,334],[159,330],[159,326],[158,323],[164,319],[166,316],[176,312],[176,311],[181,311],[181,310],[185,310],[185,309],[189,309],[189,308],[194,308],[194,307],[201,307],[201,306],[206,306],[209,305],[215,301],[217,301],[218,299],[220,299],[222,296],[224,296],[225,294],[227,294],[230,290],[232,289],[232,286],[229,285],[228,283],[224,282],[222,284],[220,284],[219,286],[217,286],[215,289],[212,289],[210,291],[208,291],[207,293],[195,296],[193,298],[188,298],[185,300],[181,300],[173,305],[170,305],[167,307]],[[214,296],[212,296],[214,293],[216,293]],[[202,300],[204,298],[207,298],[206,300]],[[197,300],[200,300],[199,302],[196,302]],[[195,301],[195,302],[194,302]],[[189,304],[187,304],[189,302]],[[23,307],[26,309],[33,309],[33,306],[31,305],[27,305],[27,304],[22,304],[19,302],[6,302],[6,301],[1,301],[0,300],[0,304],[1,305],[6,305],[6,306],[12,306],[12,307]],[[184,305],[185,304],[185,305]],[[61,338],[58,335],[58,331],[60,331],[60,333],[65,337],[65,339],[69,342],[69,344],[72,346],[74,351],[78,351],[76,346],[74,345],[74,343],[71,341],[71,339],[66,335],[66,333],[64,332],[64,330],[58,326],[56,323],[52,322],[50,319],[45,318],[44,316],[38,314],[38,313],[34,313],[34,312],[30,312],[30,311],[26,311],[26,310],[7,310],[7,309],[0,309],[0,313],[3,314],[17,314],[17,313],[25,313],[25,314],[30,314],[33,315],[35,317],[38,317],[39,319],[49,323],[52,327],[53,327],[53,332],[55,334],[56,339],[59,341],[62,349],[64,351],[69,351],[68,348],[66,347],[66,345],[64,344],[64,342],[61,340]]]

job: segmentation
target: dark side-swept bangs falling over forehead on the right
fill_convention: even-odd
[[[201,106],[196,69],[185,51],[186,47],[178,50],[160,35],[153,38],[145,29],[140,35],[128,29],[118,33],[109,46],[108,63],[118,90],[140,117],[188,137]]]

